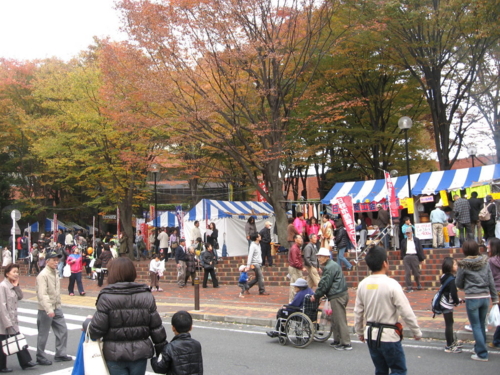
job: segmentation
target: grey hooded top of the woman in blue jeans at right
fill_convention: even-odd
[[[455,283],[457,288],[464,290],[466,299],[491,296],[492,302],[498,303],[498,294],[486,255],[466,257],[457,263]]]

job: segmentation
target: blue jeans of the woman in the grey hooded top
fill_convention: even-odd
[[[489,298],[474,298],[465,300],[467,317],[469,318],[469,322],[472,327],[474,340],[476,340],[474,352],[479,358],[488,358],[488,349],[486,349],[486,327],[484,322],[486,320],[489,305]]]

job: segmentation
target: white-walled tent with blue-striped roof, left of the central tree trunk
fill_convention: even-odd
[[[224,241],[228,256],[248,254],[248,241],[245,235],[245,224],[253,216],[257,230],[264,228],[266,221],[275,222],[274,210],[267,202],[228,202],[202,199],[184,216],[184,236],[189,246],[192,238],[194,222],[200,222],[200,230],[204,236],[207,226],[214,223],[219,231],[219,255],[222,254]]]

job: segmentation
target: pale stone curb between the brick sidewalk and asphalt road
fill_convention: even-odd
[[[196,311],[190,312],[191,316],[194,320],[203,320],[209,322],[217,322],[217,323],[234,323],[234,324],[245,324],[259,327],[274,327],[276,324],[275,319],[261,319],[261,318],[249,318],[246,316],[226,316],[226,315],[214,315],[214,314],[203,314]],[[164,318],[170,318],[173,314],[164,314]],[[349,331],[351,334],[355,334],[354,326],[349,326]],[[474,341],[474,335],[469,331],[455,331],[456,337],[461,341]],[[404,329],[404,336],[406,338],[412,338],[412,333],[409,329]],[[432,339],[432,340],[446,340],[444,335],[444,330],[439,329],[422,329],[422,338],[423,339]],[[493,340],[493,333],[486,333],[487,341]]]

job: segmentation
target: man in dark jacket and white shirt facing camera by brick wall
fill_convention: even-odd
[[[406,292],[413,292],[411,286],[411,275],[417,283],[417,290],[422,289],[420,285],[420,262],[425,259],[424,249],[417,237],[413,236],[411,227],[406,228],[406,238],[401,242],[401,259],[405,267]]]

